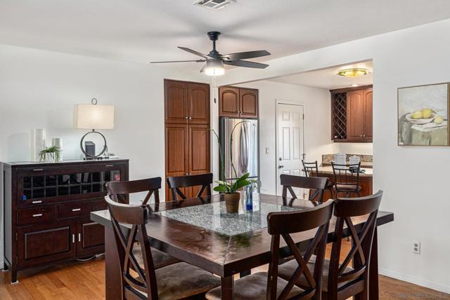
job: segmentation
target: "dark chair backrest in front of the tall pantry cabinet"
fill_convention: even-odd
[[[201,186],[197,196],[195,197],[202,196],[205,190],[206,195],[211,196],[212,173],[167,177],[167,184],[172,193],[172,201],[178,201],[177,194],[181,197],[181,199],[187,198],[180,190],[180,188],[183,187]]]

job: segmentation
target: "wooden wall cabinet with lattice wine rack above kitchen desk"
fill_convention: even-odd
[[[372,142],[372,86],[330,90],[331,139]]]

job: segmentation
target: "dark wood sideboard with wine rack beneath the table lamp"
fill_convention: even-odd
[[[128,180],[128,160],[4,164],[5,269],[17,272],[104,252],[105,182]],[[128,200],[126,198],[126,200]]]

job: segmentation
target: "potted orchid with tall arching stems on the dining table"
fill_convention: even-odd
[[[248,176],[250,173],[245,173],[244,175],[238,177],[238,173],[236,172],[236,168],[234,168],[233,165],[233,151],[232,145],[233,145],[233,132],[236,129],[236,126],[238,126],[240,123],[244,123],[246,121],[242,121],[234,125],[233,130],[231,130],[230,134],[230,164],[231,164],[231,172],[234,173],[234,177],[236,179],[229,179],[227,180],[218,180],[216,181],[218,186],[214,187],[214,191],[218,191],[219,193],[224,193],[225,203],[226,203],[226,212],[229,213],[236,213],[239,209],[239,200],[240,200],[240,193],[238,192],[240,189],[242,189],[245,186],[248,186],[252,182],[248,180]],[[214,132],[214,135],[217,137],[217,142],[219,143],[219,161],[221,164],[221,177],[225,178],[225,154],[224,149],[221,146],[219,135],[217,135],[217,132],[212,130]]]

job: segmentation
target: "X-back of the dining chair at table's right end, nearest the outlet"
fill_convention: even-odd
[[[383,191],[378,191],[374,195],[360,198],[338,198],[335,200],[335,236],[331,249],[330,269],[328,277],[328,293],[336,295],[340,282],[356,282],[358,280],[368,280],[368,263],[371,257],[373,243],[373,233],[375,232],[378,207],[380,207]],[[357,231],[352,223],[351,217],[368,215],[367,221],[360,231]],[[344,225],[347,228],[344,229]],[[344,232],[352,236],[352,249],[347,256],[340,260],[340,250]],[[349,263],[354,261],[354,269],[346,271]],[[342,261],[342,264],[340,264]],[[347,284],[346,284],[347,285]],[[337,299],[331,296],[331,299]]]

